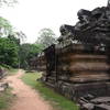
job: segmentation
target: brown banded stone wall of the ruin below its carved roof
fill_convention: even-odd
[[[42,81],[80,103],[88,96],[110,96],[110,65],[105,50],[91,45],[52,45],[37,58]],[[92,98],[91,98],[92,99]]]

